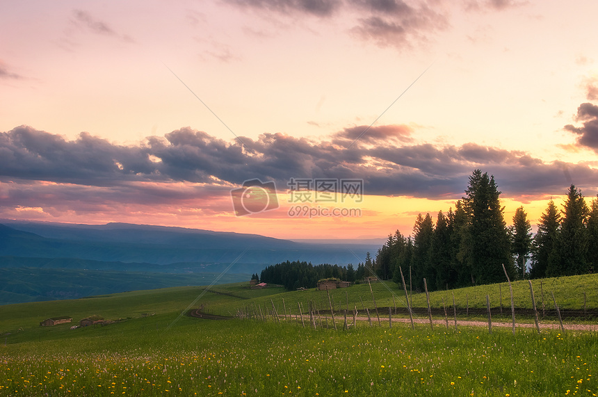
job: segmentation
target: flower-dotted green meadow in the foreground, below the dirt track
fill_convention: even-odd
[[[177,320],[178,318],[178,320]],[[593,396],[598,338],[161,314],[0,348],[6,396]]]

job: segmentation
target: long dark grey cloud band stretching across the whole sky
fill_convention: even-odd
[[[580,118],[594,117],[597,110],[583,106]],[[135,197],[138,192],[138,200],[165,202],[184,193],[164,186],[193,182],[216,194],[254,178],[273,180],[283,191],[291,178],[347,178],[364,179],[371,195],[458,198],[476,168],[493,174],[510,197],[557,195],[569,183],[589,191],[598,186],[598,171],[588,164],[545,162],[475,143],[413,143],[404,126],[375,127],[364,136],[365,143],[345,149],[361,128],[317,142],[266,133],[255,140],[241,137],[242,147],[190,128],[123,146],[89,133],[66,140],[22,126],[0,133],[0,177],[86,186],[114,196]]]

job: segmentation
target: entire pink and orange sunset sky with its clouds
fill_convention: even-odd
[[[597,12],[4,1],[0,218],[384,238],[480,169],[535,226],[569,184],[598,193]]]

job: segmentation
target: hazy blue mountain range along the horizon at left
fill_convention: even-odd
[[[242,254],[237,262],[259,265],[252,266],[253,271],[258,271],[261,265],[286,260],[356,265],[364,261],[366,252],[373,254],[379,247],[379,244],[359,244],[359,241],[297,243],[258,234],[127,223],[70,225],[0,220],[0,256],[13,257],[159,265],[185,262],[205,267],[230,264]]]

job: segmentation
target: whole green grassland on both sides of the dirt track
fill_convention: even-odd
[[[546,279],[543,285],[554,291],[557,300],[562,296],[564,306],[580,309],[583,298],[575,296],[583,295],[584,282],[596,290],[593,275]],[[393,295],[398,307],[404,305],[400,301],[405,302],[405,296],[396,284],[372,284],[372,288],[379,307],[393,306]],[[471,307],[484,307],[485,295],[490,295],[485,291],[498,286],[477,288],[480,291],[448,291],[448,296],[452,301],[454,292],[460,302],[466,295]],[[503,305],[509,307],[508,286],[501,289]],[[514,291],[516,297],[518,293],[528,296],[528,283],[514,283]],[[350,306],[357,306],[360,313],[362,302],[373,312],[367,284],[330,292],[335,310],[345,309],[348,297]],[[430,300],[442,305],[446,294],[432,293]],[[414,295],[414,305],[422,295]],[[483,300],[474,298],[478,295]],[[251,306],[266,309],[274,303],[282,314],[283,298],[287,312],[293,314],[296,309],[291,307],[297,302],[307,309],[309,300],[314,305],[328,300],[325,291],[250,290],[243,283],[215,286],[209,292],[202,287],[179,287],[0,307],[0,395],[598,394],[595,332],[542,330],[538,334],[517,329],[513,336],[510,328],[494,327],[490,334],[485,327],[455,330],[435,325],[430,330],[429,325],[416,324],[412,330],[405,323],[389,328],[387,321],[382,326],[374,321],[373,327],[359,322],[342,330],[338,313],[337,331],[330,327],[314,330],[307,321],[304,328],[294,319],[264,323],[181,316],[192,303],[215,314],[234,314]],[[597,293],[590,288],[586,305],[588,310],[598,307]],[[154,315],[141,316],[148,313]],[[73,324],[38,326],[49,316],[70,315],[76,322],[91,314],[126,321],[75,330],[70,330]]]

